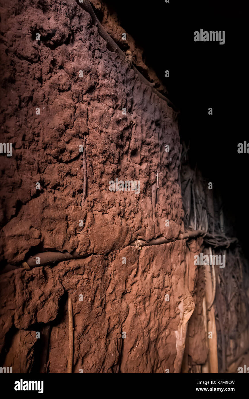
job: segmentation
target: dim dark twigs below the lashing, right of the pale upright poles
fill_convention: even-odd
[[[220,359],[225,358],[225,361],[222,361],[223,372],[248,350],[249,338],[246,268],[237,247],[233,252],[225,251],[225,255],[226,267],[222,270],[217,269],[219,297],[215,302],[219,326],[218,349]]]

